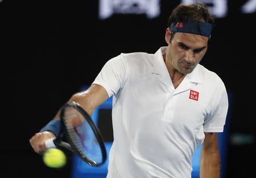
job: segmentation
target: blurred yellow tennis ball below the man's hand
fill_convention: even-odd
[[[43,154],[43,162],[50,168],[61,168],[67,162],[66,155],[57,148],[50,148]]]

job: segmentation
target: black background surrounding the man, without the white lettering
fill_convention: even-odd
[[[29,139],[73,93],[91,84],[110,58],[154,53],[166,45],[167,18],[179,2],[161,1],[155,19],[130,14],[100,20],[98,1],[3,0],[0,50],[7,108],[2,110],[1,177],[70,177],[71,160],[62,169],[47,168]],[[248,162],[255,152],[255,13],[241,13],[245,2],[228,1],[228,14],[216,19],[201,61],[233,96],[227,177],[254,175],[255,164]]]

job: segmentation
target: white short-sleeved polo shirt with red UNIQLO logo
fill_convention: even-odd
[[[191,177],[204,132],[224,129],[228,96],[220,77],[198,64],[174,89],[165,51],[121,53],[93,82],[113,96],[108,178]]]

